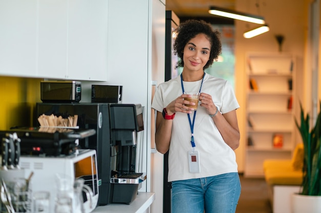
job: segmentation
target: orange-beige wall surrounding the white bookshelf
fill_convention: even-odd
[[[304,76],[304,54],[305,54],[305,36],[308,29],[308,0],[236,0],[236,10],[240,12],[248,12],[254,15],[264,16],[270,27],[270,31],[246,39],[243,33],[247,30],[258,27],[255,23],[247,23],[245,21],[235,21],[235,93],[240,104],[237,110],[239,128],[241,133],[241,141],[236,152],[236,160],[239,172],[244,170],[244,153],[246,145],[246,89],[248,83],[245,73],[245,56],[247,52],[278,52],[278,43],[275,39],[276,34],[282,34],[285,39],[282,45],[282,52],[290,52],[297,57],[296,66],[296,87],[303,87]],[[256,7],[259,3],[259,7]],[[294,100],[295,105],[298,99],[303,98],[302,90],[298,89],[297,99]],[[297,109],[298,107],[296,107]],[[296,110],[297,111],[297,110]]]

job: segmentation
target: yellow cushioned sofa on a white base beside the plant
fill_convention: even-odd
[[[292,159],[266,159],[264,177],[268,185],[273,213],[290,211],[291,195],[299,193],[303,180],[303,143],[297,144]]]

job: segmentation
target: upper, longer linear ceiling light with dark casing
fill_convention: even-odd
[[[255,16],[247,13],[240,13],[232,10],[222,9],[218,7],[210,7],[209,11],[210,14],[224,16],[228,18],[234,18],[238,20],[258,23],[260,25],[265,24],[265,20],[262,16]]]

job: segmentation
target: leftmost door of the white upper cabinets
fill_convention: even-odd
[[[0,75],[36,75],[36,11],[36,0],[0,0]]]

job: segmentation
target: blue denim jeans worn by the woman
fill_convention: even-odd
[[[238,173],[172,182],[172,213],[232,213],[240,196]]]

